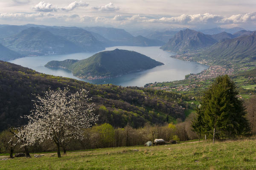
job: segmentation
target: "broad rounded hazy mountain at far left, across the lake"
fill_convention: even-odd
[[[31,27],[14,36],[3,38],[1,42],[24,55],[69,54],[83,51],[73,42],[38,27]]]

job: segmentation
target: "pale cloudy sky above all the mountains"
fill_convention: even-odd
[[[0,24],[256,30],[256,0],[0,0]]]

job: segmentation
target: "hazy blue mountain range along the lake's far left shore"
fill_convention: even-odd
[[[25,56],[96,52],[116,45],[160,46],[164,44],[162,41],[143,36],[134,37],[123,29],[105,27],[87,27],[86,29],[33,24],[0,25],[0,43]]]

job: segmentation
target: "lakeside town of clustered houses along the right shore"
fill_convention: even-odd
[[[212,66],[209,66],[209,68],[207,68],[206,70],[202,71],[201,73],[186,75],[185,80],[188,80],[190,82],[202,82],[207,79],[218,77],[219,75],[227,74],[230,76],[233,74],[233,72],[234,72],[233,68],[227,69],[220,65],[212,65]],[[180,80],[175,82],[179,82],[179,81]],[[173,82],[173,84],[175,84],[175,82]],[[173,86],[154,87],[155,85],[157,85],[157,82],[148,83],[145,85],[145,87],[161,89],[164,91],[192,91],[192,89],[194,88],[198,88],[198,87],[200,88],[201,86],[203,86],[201,84],[188,84],[188,85],[177,85],[177,86],[173,85]]]

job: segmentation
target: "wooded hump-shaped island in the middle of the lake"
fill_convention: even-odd
[[[143,71],[158,65],[163,63],[135,51],[115,49],[102,51],[82,60],[50,61],[45,67],[68,69],[81,79],[102,79]]]

